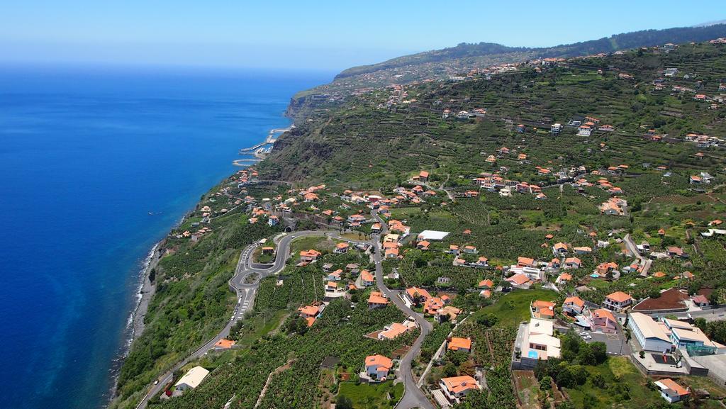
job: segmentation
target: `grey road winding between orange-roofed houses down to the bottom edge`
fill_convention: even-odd
[[[378,222],[380,222],[380,226],[382,229],[381,234],[385,234],[388,230],[386,222],[384,222],[383,219],[380,219],[380,216],[378,216],[375,211],[372,212],[372,216]],[[403,359],[401,360],[401,364],[399,365],[399,374],[404,381],[404,386],[406,386],[406,389],[404,392],[404,396],[401,398],[401,402],[396,405],[396,408],[434,409],[431,401],[428,400],[423,391],[419,389],[416,385],[416,381],[414,381],[413,374],[411,373],[411,363],[416,355],[418,355],[418,352],[421,349],[421,345],[423,344],[423,339],[425,338],[426,334],[431,332],[431,328],[433,328],[433,326],[431,325],[431,323],[428,322],[428,320],[423,317],[423,315],[419,315],[417,314],[417,312],[410,309],[406,305],[406,303],[399,297],[399,293],[397,291],[391,291],[390,289],[388,289],[388,287],[386,287],[386,282],[383,280],[383,264],[381,264],[382,260],[380,256],[381,248],[379,235],[373,235],[373,240],[375,240],[375,252],[373,254],[373,260],[375,262],[375,282],[378,285],[378,289],[384,295],[386,295],[388,299],[393,301],[393,304],[395,304],[396,307],[401,310],[401,312],[414,317],[416,319],[416,323],[421,328],[420,336],[418,336],[411,349],[409,349],[409,352],[404,355]]]

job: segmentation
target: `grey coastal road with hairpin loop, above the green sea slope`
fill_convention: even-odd
[[[147,392],[146,396],[144,396],[141,402],[139,402],[139,405],[136,405],[136,409],[146,408],[150,398],[161,392],[164,389],[164,386],[171,382],[174,371],[179,370],[182,366],[187,365],[187,363],[202,357],[205,353],[209,352],[209,350],[214,347],[214,344],[216,344],[220,339],[224,339],[229,335],[229,330],[232,328],[232,325],[237,323],[238,320],[241,320],[245,316],[245,312],[252,309],[255,293],[260,285],[260,280],[268,275],[280,272],[283,268],[285,268],[285,262],[287,262],[287,258],[290,256],[290,242],[295,238],[308,235],[327,235],[340,240],[346,240],[341,238],[340,235],[338,235],[338,232],[328,230],[307,230],[284,235],[277,245],[277,254],[275,255],[274,263],[270,267],[266,268],[259,268],[261,267],[261,264],[253,264],[252,262],[252,254],[255,249],[260,246],[260,244],[253,243],[250,244],[250,246],[245,247],[245,249],[240,253],[240,260],[237,262],[237,269],[234,273],[234,277],[229,280],[229,286],[234,288],[234,291],[237,293],[237,305],[234,307],[234,313],[227,322],[227,325],[224,325],[224,328],[222,328],[222,330],[219,331],[213,339],[207,341],[203,346],[193,352],[192,355],[189,355],[189,357],[177,363],[174,367],[168,370],[168,372],[160,376],[158,378],[158,384],[151,386],[149,392]],[[245,283],[245,278],[247,278],[248,275],[253,274],[256,274],[257,278],[250,283]]]

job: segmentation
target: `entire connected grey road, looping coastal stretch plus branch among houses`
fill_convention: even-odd
[[[373,211],[371,214],[375,219],[378,220],[378,222],[381,223],[381,226],[384,229],[382,233],[385,233],[388,230],[386,222],[383,222],[383,219],[380,219],[380,216],[378,216],[375,211]],[[373,259],[375,261],[375,278],[376,283],[378,284],[378,288],[388,297],[388,299],[391,299],[391,301],[393,301],[393,304],[395,304],[396,307],[401,310],[401,312],[404,312],[404,314],[406,315],[415,317],[416,322],[421,328],[421,335],[416,339],[411,349],[409,349],[409,352],[407,352],[407,354],[401,360],[399,374],[401,376],[401,379],[404,381],[405,392],[399,404],[396,405],[396,408],[434,409],[433,405],[431,405],[431,402],[428,400],[425,394],[421,391],[421,389],[417,387],[411,373],[412,360],[414,359],[414,357],[416,357],[416,355],[418,355],[418,352],[421,349],[421,345],[423,344],[423,339],[426,334],[431,332],[431,323],[429,323],[428,320],[425,320],[422,315],[417,314],[412,309],[407,307],[406,303],[404,303],[404,301],[399,297],[396,291],[391,291],[390,289],[388,289],[388,287],[386,287],[386,283],[383,281],[383,266],[381,264],[382,260],[379,235],[373,235],[372,240],[370,241],[348,240],[341,237],[335,230],[306,230],[302,232],[287,233],[285,235],[282,235],[279,242],[277,243],[277,253],[275,255],[274,263],[272,264],[253,263],[252,254],[258,246],[261,246],[261,243],[257,242],[245,247],[240,253],[240,260],[237,262],[237,268],[234,273],[234,277],[229,280],[230,289],[234,289],[234,291],[237,293],[237,305],[234,307],[234,313],[227,322],[227,325],[224,325],[224,328],[219,333],[217,333],[217,335],[214,336],[213,339],[210,339],[195,352],[192,352],[192,355],[189,355],[184,360],[176,363],[176,365],[174,365],[166,373],[160,376],[158,378],[158,383],[155,383],[150,387],[147,394],[144,396],[141,402],[139,402],[139,405],[136,405],[136,409],[146,408],[147,403],[149,402],[151,397],[163,391],[164,387],[172,381],[174,372],[176,370],[179,370],[184,365],[187,365],[187,363],[202,357],[211,349],[213,349],[214,345],[220,339],[226,338],[229,335],[229,331],[232,328],[232,325],[234,325],[234,323],[237,323],[238,320],[241,320],[245,316],[245,312],[248,312],[250,309],[252,309],[255,294],[257,292],[257,288],[260,285],[260,281],[263,278],[268,277],[269,275],[277,274],[277,272],[280,272],[282,271],[282,269],[285,268],[285,262],[287,262],[287,259],[290,256],[290,243],[295,238],[301,238],[303,236],[311,235],[329,236],[338,240],[346,240],[349,243],[367,243],[373,246],[373,248],[375,249],[373,253]],[[253,274],[256,274],[255,280],[249,283],[245,283],[245,278],[248,278],[249,275]]]

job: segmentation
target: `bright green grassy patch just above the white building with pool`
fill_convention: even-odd
[[[495,327],[516,327],[522,321],[528,321],[531,316],[529,305],[536,299],[549,301],[557,299],[558,294],[552,290],[513,290],[503,295],[497,302],[478,310],[470,319],[476,320],[484,314],[494,314],[499,317]]]

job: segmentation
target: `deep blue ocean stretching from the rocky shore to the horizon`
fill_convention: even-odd
[[[331,77],[0,68],[0,408],[105,405],[150,248]]]

